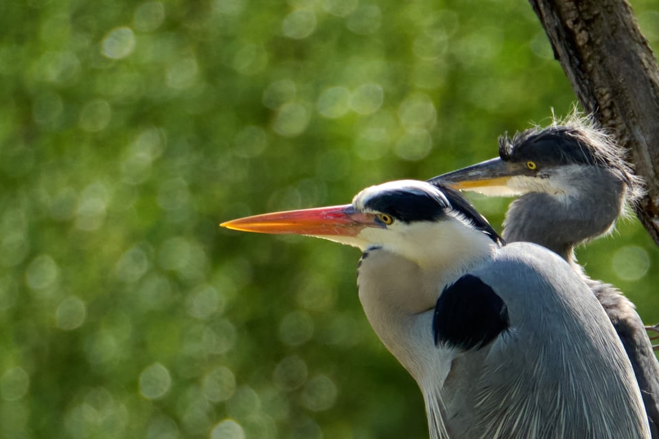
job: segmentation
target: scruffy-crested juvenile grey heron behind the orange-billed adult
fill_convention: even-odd
[[[592,280],[574,258],[575,246],[612,229],[625,203],[642,192],[611,137],[575,115],[546,128],[499,139],[499,157],[448,172],[431,182],[492,196],[519,196],[506,213],[502,236],[529,241],[568,261],[597,297],[643,395],[653,438],[659,438],[659,362],[634,304],[610,284]]]

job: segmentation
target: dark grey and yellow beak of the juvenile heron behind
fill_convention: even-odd
[[[502,159],[496,158],[481,161],[479,164],[467,166],[448,172],[428,180],[429,183],[443,182],[454,189],[477,190],[478,188],[507,187],[511,177],[518,175],[515,166],[510,166]]]

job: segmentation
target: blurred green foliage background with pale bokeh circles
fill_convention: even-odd
[[[656,2],[633,7],[657,47]],[[1,437],[427,437],[358,251],[218,223],[569,113],[526,2],[27,0],[0,23]],[[509,200],[471,198],[500,228]],[[636,218],[578,256],[659,322]]]

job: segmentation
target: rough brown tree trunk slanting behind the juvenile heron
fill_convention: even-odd
[[[529,0],[583,110],[615,133],[647,194],[635,208],[659,245],[659,67],[625,0]]]

